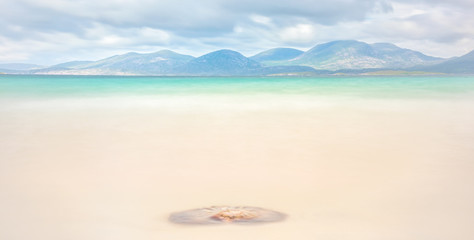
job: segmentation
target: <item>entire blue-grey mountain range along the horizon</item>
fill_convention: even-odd
[[[251,57],[227,49],[197,58],[162,50],[147,54],[130,52],[98,61],[74,61],[49,67],[0,64],[0,72],[3,73],[71,75],[264,76],[357,74],[387,70],[474,74],[474,51],[461,57],[444,59],[390,43],[367,44],[343,40],[319,44],[308,51],[274,48]]]

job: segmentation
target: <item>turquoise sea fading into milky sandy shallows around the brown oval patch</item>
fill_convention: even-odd
[[[474,78],[0,76],[0,239],[472,239]],[[213,205],[283,212],[181,226]]]

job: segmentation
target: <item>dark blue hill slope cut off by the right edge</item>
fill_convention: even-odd
[[[442,63],[431,66],[418,66],[414,70],[453,73],[453,74],[474,74],[474,51],[461,57],[448,59]]]

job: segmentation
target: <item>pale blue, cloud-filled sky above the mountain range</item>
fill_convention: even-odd
[[[436,57],[474,50],[473,0],[0,0],[0,63],[134,51],[246,56],[354,39]]]

